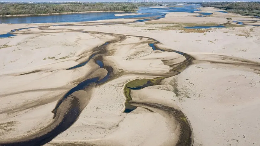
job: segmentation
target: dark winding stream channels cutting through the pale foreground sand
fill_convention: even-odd
[[[39,27],[38,29],[41,30],[60,30],[60,29],[50,29],[49,27]],[[103,62],[103,57],[107,55],[106,47],[108,44],[114,44],[120,41],[123,41],[126,39],[126,37],[130,37],[131,35],[122,35],[122,34],[109,34],[109,33],[102,33],[102,32],[91,32],[91,31],[78,31],[73,29],[63,29],[68,30],[72,32],[81,32],[81,33],[89,33],[89,34],[102,34],[102,35],[113,35],[115,38],[111,41],[108,41],[104,43],[103,45],[100,45],[98,47],[95,47],[92,49],[92,55],[90,57],[78,65],[68,68],[68,70],[74,70],[78,67],[82,67],[87,63],[90,63],[90,65],[98,65],[100,69],[94,70],[94,73],[90,76],[88,76],[86,79],[82,80],[77,86],[70,89],[64,96],[62,96],[61,99],[56,104],[56,107],[50,112],[52,112],[53,115],[53,121],[46,126],[45,128],[41,129],[40,131],[37,131],[31,135],[25,136],[23,138],[14,138],[7,140],[6,142],[0,143],[1,146],[40,146],[43,144],[48,143],[53,138],[55,138],[57,135],[59,135],[61,132],[68,129],[71,125],[73,125],[80,115],[81,111],[87,106],[88,100],[83,100],[82,98],[85,98],[86,95],[91,95],[91,90],[94,86],[98,84],[103,84],[111,79],[113,79],[114,73],[113,73],[113,67],[109,66],[109,64],[106,64]],[[23,32],[21,32],[22,35]],[[31,32],[24,32],[25,34],[33,34]],[[139,37],[139,36],[135,36]],[[155,50],[163,50],[163,51],[172,51],[176,52],[178,54],[181,54],[186,57],[186,60],[179,63],[179,65],[173,67],[173,71],[170,73],[165,74],[164,76],[161,76],[159,78],[154,78],[153,82],[147,82],[144,85],[138,85],[138,89],[147,87],[147,86],[153,86],[153,85],[159,85],[160,80],[166,77],[174,76],[179,73],[181,73],[186,67],[188,67],[192,63],[192,57],[190,57],[188,54],[174,51],[174,50],[167,50],[162,49],[159,47],[156,47],[156,44],[160,44],[159,41],[156,41],[149,37],[139,37],[141,38],[147,38],[149,41],[153,44]],[[151,44],[150,43],[150,44]],[[149,44],[149,43],[148,43]],[[152,49],[152,48],[151,48]],[[91,61],[92,60],[92,61]],[[140,81],[140,80],[139,80]],[[145,79],[144,79],[145,81]],[[132,82],[135,82],[133,80]],[[126,88],[128,88],[126,84]],[[180,140],[178,142],[178,145],[185,145],[190,146],[193,143],[193,137],[192,137],[192,128],[189,124],[188,120],[186,119],[186,116],[179,110],[174,109],[173,107],[165,106],[159,103],[145,103],[145,102],[134,102],[129,99],[130,92],[133,90],[133,88],[128,89],[129,95],[126,95],[126,104],[130,105],[131,107],[141,106],[141,107],[153,107],[160,109],[164,112],[170,113],[173,116],[181,117],[177,118],[181,127],[181,136]],[[89,97],[91,98],[91,97]],[[131,109],[134,110],[135,108]],[[129,110],[129,107],[126,107],[126,110]],[[129,111],[130,112],[130,111]],[[186,119],[186,120],[183,120]],[[183,140],[185,139],[185,140]],[[183,144],[183,141],[185,141],[185,144]]]

